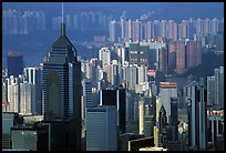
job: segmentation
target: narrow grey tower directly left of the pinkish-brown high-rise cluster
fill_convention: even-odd
[[[174,73],[174,70],[176,69],[176,42],[170,42],[168,43],[168,60],[167,60],[167,72]]]

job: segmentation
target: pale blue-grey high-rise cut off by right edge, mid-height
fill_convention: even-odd
[[[224,108],[224,67],[214,70],[215,74],[215,103]]]

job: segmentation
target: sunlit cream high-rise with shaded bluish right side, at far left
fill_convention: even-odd
[[[31,82],[24,81],[20,83],[20,114],[35,114],[37,110],[37,90],[35,85]]]

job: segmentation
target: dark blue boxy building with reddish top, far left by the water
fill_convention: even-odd
[[[23,74],[23,57],[19,52],[9,52],[7,55],[8,76]]]

